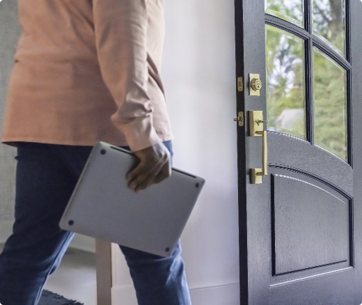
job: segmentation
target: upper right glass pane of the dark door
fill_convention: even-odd
[[[313,0],[313,32],[339,54],[345,54],[345,0]]]

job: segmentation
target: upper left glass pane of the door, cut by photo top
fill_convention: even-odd
[[[265,0],[265,13],[304,26],[303,0]]]

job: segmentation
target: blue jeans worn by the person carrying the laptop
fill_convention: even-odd
[[[171,141],[164,143],[172,153]],[[58,222],[92,148],[19,143],[17,149],[15,224],[0,255],[0,304],[36,305],[74,235]],[[120,249],[139,305],[191,305],[180,244],[168,258]]]

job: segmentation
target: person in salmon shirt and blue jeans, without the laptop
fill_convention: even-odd
[[[22,36],[2,142],[17,146],[15,224],[0,255],[0,304],[36,305],[73,233],[58,221],[92,146],[128,146],[142,191],[171,172],[159,76],[163,0],[18,0]],[[190,305],[180,244],[168,258],[120,246],[139,305]]]

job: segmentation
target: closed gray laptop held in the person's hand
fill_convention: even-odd
[[[64,230],[169,256],[205,180],[172,169],[170,178],[136,194],[125,179],[135,164],[136,157],[128,150],[97,143],[59,225]]]

